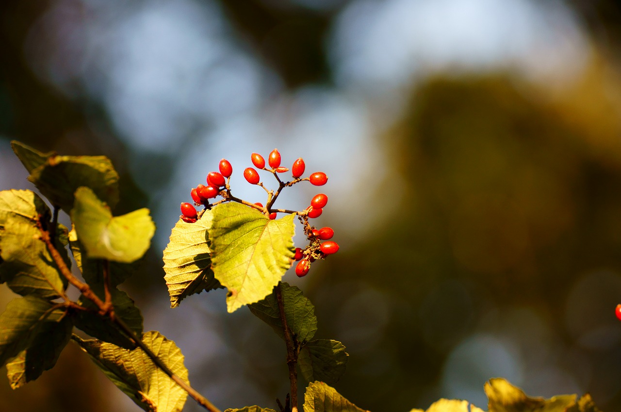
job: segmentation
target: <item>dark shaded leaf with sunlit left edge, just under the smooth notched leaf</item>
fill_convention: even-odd
[[[84,246],[78,240],[78,233],[75,229],[69,232],[69,243],[71,254],[76,261],[76,266],[82,272],[82,277],[89,285],[101,284],[103,282],[104,261],[102,259],[89,259],[86,257]],[[128,277],[134,274],[142,259],[131,263],[109,262],[109,276],[112,287],[122,284]]]

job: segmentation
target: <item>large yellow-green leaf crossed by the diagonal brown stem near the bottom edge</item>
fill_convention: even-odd
[[[139,347],[123,349],[111,343],[73,336],[73,340],[91,356],[91,359],[120,390],[145,411],[181,412],[188,393],[153,364]],[[164,364],[188,381],[188,369],[183,365],[183,354],[173,341],[156,331],[142,335],[143,343]]]

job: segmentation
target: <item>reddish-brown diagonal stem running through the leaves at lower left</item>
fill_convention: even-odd
[[[201,405],[203,408],[205,408],[206,410],[208,410],[210,412],[220,412],[220,410],[218,408],[216,408],[209,400],[207,400],[207,398],[202,396],[194,388],[192,388],[190,385],[188,385],[188,383],[183,382],[183,380],[181,378],[179,378],[177,375],[175,375],[173,373],[173,371],[170,370],[168,368],[168,366],[166,366],[166,364],[164,364],[164,362],[162,362],[161,359],[159,357],[157,357],[157,355],[154,354],[151,351],[151,349],[149,349],[142,342],[142,339],[140,339],[134,333],[134,331],[132,331],[132,329],[130,329],[129,326],[127,326],[125,324],[124,321],[122,321],[120,318],[118,318],[116,316],[116,314],[114,313],[114,310],[111,310],[112,309],[111,307],[108,308],[106,303],[102,302],[101,299],[99,297],[97,297],[97,295],[93,292],[93,290],[89,287],[89,285],[87,285],[87,284],[85,284],[83,282],[80,282],[73,274],[71,274],[71,271],[66,266],[65,261],[63,261],[62,256],[60,256],[60,253],[58,253],[58,250],[52,244],[52,241],[50,240],[50,233],[48,233],[48,231],[43,229],[43,226],[41,225],[40,220],[37,222],[37,226],[39,226],[39,230],[41,232],[41,240],[43,240],[43,242],[46,244],[48,250],[50,251],[50,255],[52,256],[52,259],[54,259],[54,262],[58,266],[58,269],[60,269],[61,274],[63,276],[65,276],[65,278],[70,282],[70,284],[72,284],[75,287],[77,287],[79,289],[79,291],[82,292],[84,297],[88,298],[89,300],[91,300],[91,302],[93,302],[95,305],[97,305],[97,308],[99,308],[99,312],[102,315],[109,316],[111,318],[111,320],[114,322],[114,324],[117,325],[119,327],[119,329],[121,329],[125,334],[127,334],[127,336],[129,336],[129,338],[132,339],[134,341],[134,343],[138,347],[140,347],[140,349],[142,349],[147,354],[148,357],[151,358],[153,363],[158,368],[160,368],[162,370],[162,372],[164,372],[173,381],[175,381],[175,383],[177,385],[179,385],[181,388],[183,388],[184,391],[188,392],[188,395],[192,396],[192,398],[194,398],[194,400],[199,405]],[[107,277],[106,276],[106,272],[107,272],[107,269],[104,266],[104,277]],[[109,291],[108,291],[108,293],[109,293]],[[106,298],[106,300],[107,300],[107,298]]]

